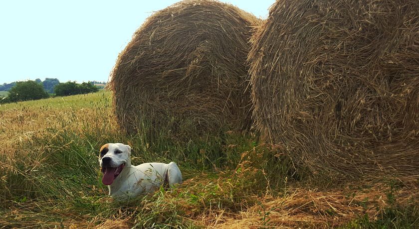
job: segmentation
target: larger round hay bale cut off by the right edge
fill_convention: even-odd
[[[256,126],[312,172],[419,171],[419,1],[278,0],[251,39]]]

